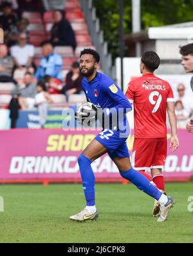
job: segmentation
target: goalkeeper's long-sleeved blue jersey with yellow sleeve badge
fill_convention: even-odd
[[[131,111],[131,103],[124,93],[111,78],[100,72],[96,73],[95,78],[88,82],[86,78],[82,80],[82,89],[86,94],[87,101],[93,103],[97,108],[103,109],[105,115],[116,115],[116,127],[110,124],[109,129],[114,127],[117,130],[125,131],[129,127],[126,113]],[[104,124],[102,125],[104,129]]]

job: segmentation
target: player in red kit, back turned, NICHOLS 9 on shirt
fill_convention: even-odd
[[[142,77],[129,83],[126,96],[134,105],[133,167],[164,192],[162,169],[167,157],[166,111],[172,133],[172,152],[178,148],[179,141],[172,89],[167,81],[154,76],[159,65],[156,52],[145,52],[140,63]],[[145,173],[148,169],[151,169],[152,178]],[[155,201],[153,216],[159,217],[159,213],[160,205]]]

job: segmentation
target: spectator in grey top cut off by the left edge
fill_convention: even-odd
[[[13,82],[12,70],[14,68],[14,60],[8,56],[8,48],[4,44],[0,44],[0,82]]]

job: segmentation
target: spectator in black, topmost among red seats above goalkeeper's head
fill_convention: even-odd
[[[51,28],[51,43],[53,46],[71,46],[73,50],[77,47],[75,33],[67,19],[64,19],[64,12],[53,11],[55,23]]]

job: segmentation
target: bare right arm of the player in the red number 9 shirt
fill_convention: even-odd
[[[172,101],[167,102],[167,113],[169,115],[170,128],[172,131],[172,137],[170,140],[170,149],[172,152],[174,152],[179,147],[179,140],[178,140],[178,136],[177,136],[175,103],[174,102],[172,102]]]

